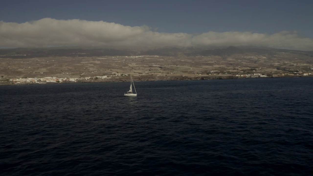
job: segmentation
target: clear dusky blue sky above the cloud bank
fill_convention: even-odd
[[[313,1],[186,0],[7,0],[0,20],[23,23],[41,18],[107,21],[147,25],[159,32],[299,30],[313,38]]]

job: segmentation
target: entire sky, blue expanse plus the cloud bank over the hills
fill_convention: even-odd
[[[309,0],[7,0],[0,47],[258,45],[313,50]]]

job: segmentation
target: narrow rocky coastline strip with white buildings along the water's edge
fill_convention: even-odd
[[[295,78],[295,77],[313,77],[313,76],[268,76],[268,77],[239,77],[233,75],[218,75],[218,76],[136,76],[134,81],[164,81],[164,80],[218,80],[218,79],[259,79],[259,78]],[[128,76],[123,77],[111,77],[107,79],[90,79],[90,80],[78,80],[74,81],[62,81],[62,82],[48,82],[48,83],[14,83],[9,80],[0,81],[0,85],[29,85],[29,84],[64,84],[64,83],[97,83],[97,82],[128,82]]]

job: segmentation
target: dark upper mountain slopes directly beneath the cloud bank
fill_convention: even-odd
[[[178,55],[189,56],[230,56],[232,54],[268,54],[274,55],[278,52],[290,54],[301,54],[313,57],[313,51],[301,51],[290,49],[275,49],[264,47],[234,47],[228,46],[218,49],[203,49],[203,48],[176,48],[164,47],[148,50],[133,50],[133,49],[106,49],[106,48],[80,48],[80,47],[49,47],[49,48],[13,48],[0,49],[1,58],[32,58],[32,57],[100,57],[100,56],[137,56],[137,55],[158,55],[165,57],[177,57]]]

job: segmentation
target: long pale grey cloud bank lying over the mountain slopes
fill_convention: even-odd
[[[160,33],[148,26],[124,26],[104,21],[43,18],[26,23],[0,21],[1,47],[47,47],[59,45],[158,48],[257,45],[312,50],[313,39],[296,31],[275,34],[252,32]]]

